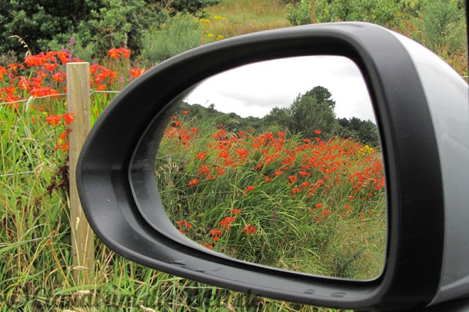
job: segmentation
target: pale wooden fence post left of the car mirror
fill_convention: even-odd
[[[78,155],[90,131],[89,63],[67,63],[67,106],[74,119],[68,134],[73,280],[80,286],[90,284],[95,264],[94,234],[83,213],[75,182]]]

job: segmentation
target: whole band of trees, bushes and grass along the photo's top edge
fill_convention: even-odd
[[[124,47],[132,50],[132,61],[149,67],[184,50],[243,33],[312,22],[367,21],[413,38],[460,75],[468,75],[464,0],[2,2],[0,60],[6,62],[21,60],[28,50],[36,54],[70,49],[73,38],[74,57],[100,60],[109,48]]]

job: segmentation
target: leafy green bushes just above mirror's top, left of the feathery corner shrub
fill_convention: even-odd
[[[292,25],[311,23],[311,1],[288,4],[286,18]],[[395,26],[401,19],[402,4],[397,0],[316,0],[316,23],[367,21]]]

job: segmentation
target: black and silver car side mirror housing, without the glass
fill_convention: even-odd
[[[374,279],[305,274],[213,252],[181,235],[158,192],[155,157],[177,103],[220,72],[308,55],[352,60],[369,92],[386,178],[386,254]],[[112,101],[80,154],[80,200],[108,247],[170,274],[316,306],[436,306],[469,294],[468,101],[467,83],[443,60],[373,24],[226,39],[155,66]]]

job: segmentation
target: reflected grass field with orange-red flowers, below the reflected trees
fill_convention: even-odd
[[[191,240],[246,262],[379,276],[386,252],[379,148],[317,134],[226,131],[179,112],[156,160],[167,214]]]

